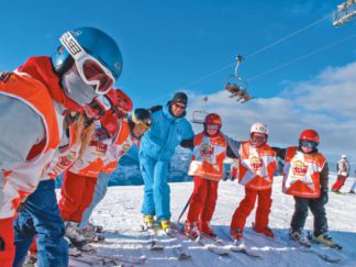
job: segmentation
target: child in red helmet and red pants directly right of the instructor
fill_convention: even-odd
[[[220,115],[210,113],[204,119],[204,131],[193,138],[193,156],[189,166],[189,176],[193,176],[194,189],[185,225],[187,235],[198,237],[200,233],[215,236],[210,220],[215,210],[218,185],[223,177],[223,162],[235,154],[220,132]]]

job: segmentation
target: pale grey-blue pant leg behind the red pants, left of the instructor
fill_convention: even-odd
[[[110,177],[111,174],[99,174],[91,203],[81,215],[81,221],[79,223],[80,229],[86,229],[88,226],[92,211],[98,205],[98,203],[105,197]]]

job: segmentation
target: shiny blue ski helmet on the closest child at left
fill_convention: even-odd
[[[69,31],[85,51],[105,66],[118,80],[122,71],[122,55],[116,42],[104,32],[90,26]],[[68,64],[69,62],[69,64]],[[52,64],[59,74],[67,71],[74,63],[68,51],[60,44],[52,56]]]

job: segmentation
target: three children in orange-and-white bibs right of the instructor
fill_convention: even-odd
[[[268,221],[276,157],[280,157],[285,160],[282,191],[292,196],[296,202],[290,237],[302,245],[309,244],[302,232],[309,208],[314,215],[312,237],[329,246],[334,245],[327,235],[324,207],[327,202],[329,168],[325,157],[318,151],[318,132],[304,130],[299,135],[298,146],[279,148],[267,144],[269,131],[263,123],[254,123],[249,140],[242,142],[234,141],[220,131],[222,121],[215,113],[205,116],[203,126],[203,132],[194,136],[188,173],[193,176],[194,188],[185,223],[187,235],[193,238],[200,234],[215,236],[209,222],[215,209],[218,185],[223,176],[223,160],[229,156],[238,158],[237,168],[232,174],[245,187],[245,197],[231,221],[231,235],[235,243],[243,241],[246,219],[257,200],[253,230],[274,237]]]

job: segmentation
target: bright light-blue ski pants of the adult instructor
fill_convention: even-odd
[[[167,160],[157,160],[140,154],[140,168],[144,179],[142,213],[156,215],[157,220],[170,219],[170,188],[167,181]]]

